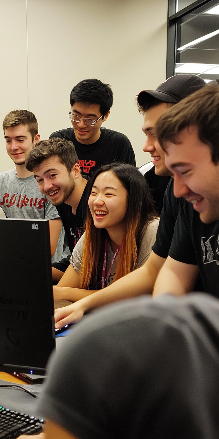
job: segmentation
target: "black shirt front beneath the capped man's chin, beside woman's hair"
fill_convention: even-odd
[[[152,163],[152,162],[151,162]],[[151,163],[148,163],[150,167]],[[166,187],[171,179],[171,177],[162,177],[155,174],[155,166],[150,167],[148,171],[144,174],[145,180],[151,190],[152,198],[154,200],[156,212],[161,214],[163,206],[163,197],[166,191]]]

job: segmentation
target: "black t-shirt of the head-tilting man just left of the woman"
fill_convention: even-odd
[[[88,180],[87,176],[83,177]],[[88,183],[86,184],[84,192],[78,203],[75,215],[72,213],[71,206],[66,203],[62,203],[59,206],[56,206],[65,230],[65,241],[71,253],[73,252],[73,248],[77,244],[78,239],[84,233],[84,223],[87,213],[87,196]],[[67,258],[62,259],[59,262],[53,263],[52,266],[54,268],[57,268],[57,270],[64,272],[69,266],[70,256],[71,255],[69,255]]]

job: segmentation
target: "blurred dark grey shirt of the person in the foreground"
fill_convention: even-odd
[[[218,439],[219,301],[139,297],[75,325],[38,414],[80,439]]]

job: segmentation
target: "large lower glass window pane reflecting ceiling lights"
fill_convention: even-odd
[[[219,2],[179,20],[176,61],[176,74],[195,73],[206,81],[219,77]]]

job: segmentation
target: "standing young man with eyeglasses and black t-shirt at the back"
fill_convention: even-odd
[[[111,162],[136,165],[128,138],[117,131],[101,128],[113,105],[113,92],[99,79],[84,79],[70,95],[71,128],[52,133],[49,138],[71,140],[78,155],[81,172],[91,175],[99,166]]]

